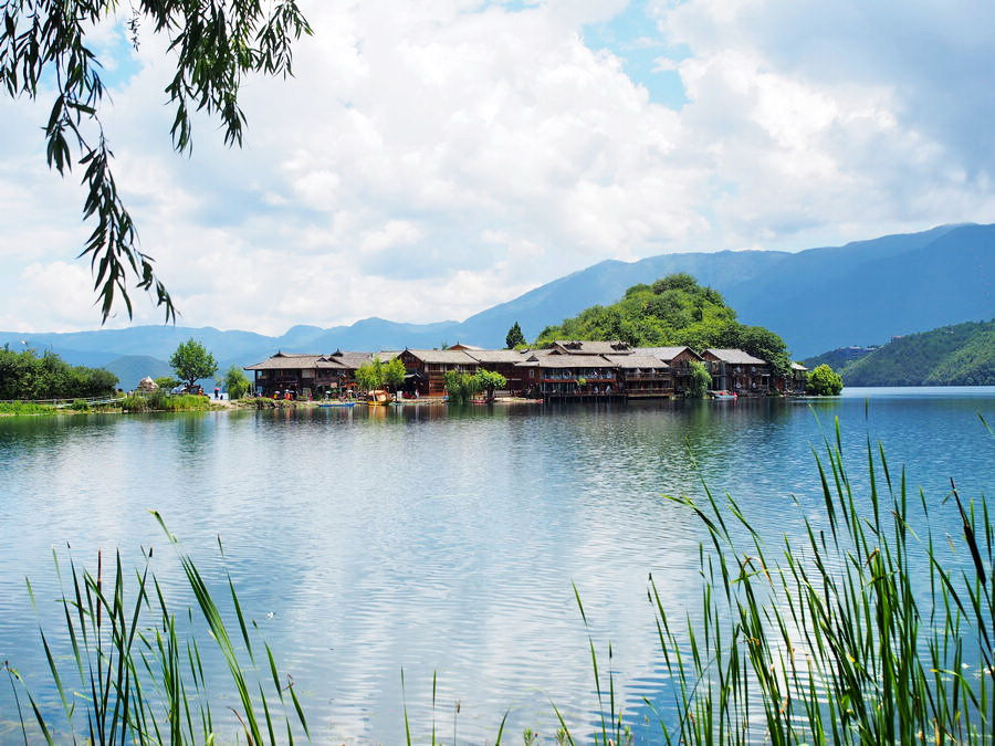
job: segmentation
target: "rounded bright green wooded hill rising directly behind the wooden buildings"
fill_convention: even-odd
[[[590,306],[547,326],[535,344],[554,339],[621,339],[635,347],[688,345],[696,350],[737,347],[771,361],[781,374],[790,365],[784,339],[761,326],[740,324],[719,291],[702,287],[683,272],[633,285],[610,306]]]

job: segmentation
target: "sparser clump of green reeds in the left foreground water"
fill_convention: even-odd
[[[59,603],[70,640],[71,663],[59,664],[62,658],[53,653],[40,628],[62,716],[46,715],[20,672],[4,664],[11,684],[19,685],[14,696],[24,743],[228,743],[233,722],[228,713],[219,717],[212,712],[203,665],[203,655],[209,651],[201,650],[195,634],[178,631],[185,624],[193,627],[198,618],[206,623],[216,652],[223,658],[231,676],[238,706],[229,710],[238,723],[235,732],[241,732],[249,744],[293,743],[295,733],[310,737],[293,680],[282,683],[269,644],[263,642],[260,649],[259,641],[253,640],[231,576],[227,581],[238,620],[234,634],[193,560],[179,550],[161,517],[155,515],[170,544],[177,547],[196,608],[185,609],[179,617],[170,610],[161,586],[149,570],[150,551],[134,578],[122,567],[119,554],[107,578],[101,560],[96,575],[92,575],[70,559],[69,580],[63,586],[67,592],[63,592]],[[220,542],[219,548],[223,555]],[[62,585],[57,556],[55,570]],[[34,605],[30,582],[28,588]],[[226,692],[230,693],[231,690]],[[21,694],[25,698],[23,707]],[[226,727],[228,731],[222,731]]]

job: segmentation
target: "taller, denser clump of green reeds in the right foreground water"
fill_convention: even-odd
[[[869,439],[867,494],[858,495],[838,421],[835,442],[813,453],[823,514],[778,547],[708,485],[702,501],[677,501],[700,518],[708,546],[701,620],[679,624],[650,579],[677,713],[659,719],[661,739],[993,743],[993,527],[984,496],[965,501],[951,481],[946,498],[931,505],[921,491],[910,494],[904,470],[893,475]],[[930,528],[940,509],[956,512],[956,540]],[[917,587],[915,578],[928,584]],[[600,736],[609,737],[604,726]]]

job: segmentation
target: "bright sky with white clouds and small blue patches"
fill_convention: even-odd
[[[102,118],[182,326],[463,319],[597,262],[995,221],[995,3],[302,0],[242,148],[171,149],[175,61],[93,30]],[[49,95],[46,95],[46,93]],[[0,98],[0,329],[100,326],[78,176]],[[129,321],[161,323],[142,292]]]

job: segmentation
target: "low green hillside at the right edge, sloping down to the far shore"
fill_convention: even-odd
[[[839,374],[847,386],[995,386],[995,321],[896,338]]]

